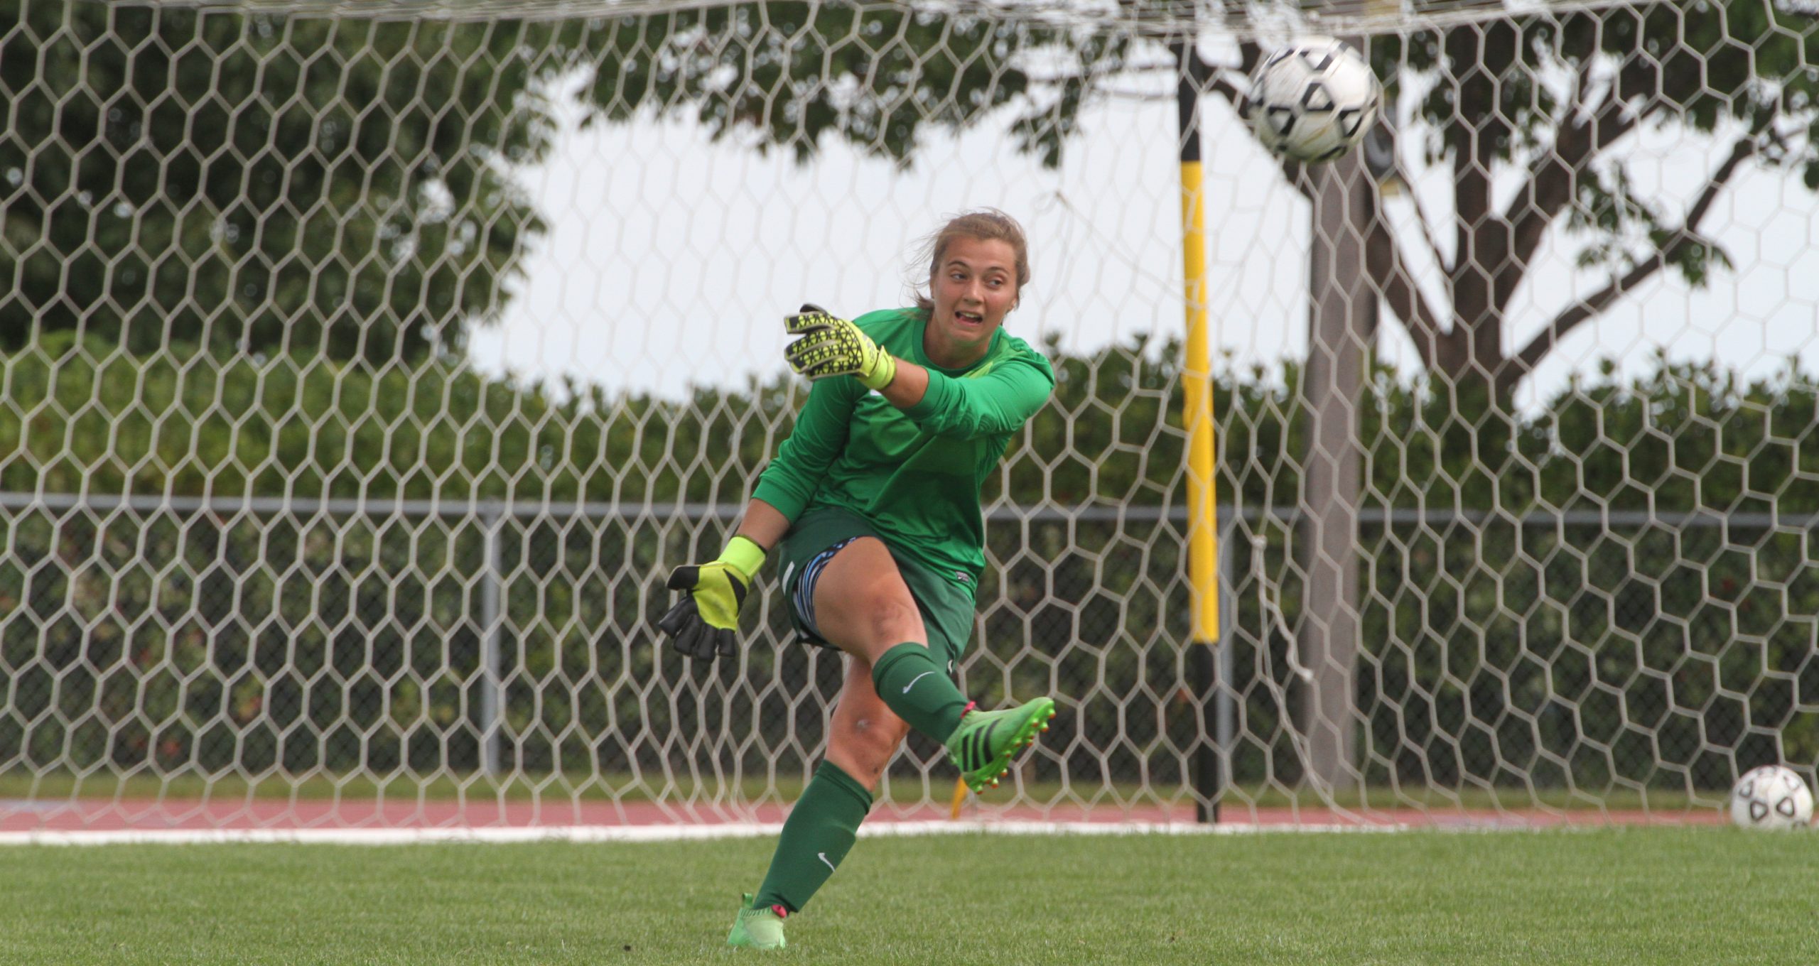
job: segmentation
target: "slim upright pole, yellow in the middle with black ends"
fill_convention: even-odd
[[[1206,62],[1193,36],[1175,42],[1181,118],[1181,258],[1188,344],[1182,355],[1182,426],[1188,428],[1188,582],[1193,588],[1188,669],[1199,706],[1193,750],[1193,791],[1201,822],[1219,820],[1219,724],[1213,693],[1219,686],[1219,520],[1213,477],[1213,378],[1206,335],[1206,193],[1201,191],[1201,91]]]

